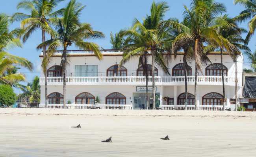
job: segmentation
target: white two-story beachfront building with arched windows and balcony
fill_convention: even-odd
[[[118,67],[122,59],[121,51],[102,51],[103,60],[98,60],[92,52],[69,51],[67,66],[67,102],[73,106],[130,106],[132,109],[145,109],[146,82],[145,74],[138,66],[138,58],[133,58],[122,67]],[[183,53],[176,58],[171,57],[168,68],[170,75],[156,66],[156,107],[172,108],[182,106],[185,102]],[[195,62],[187,72],[188,105],[193,106],[195,101],[200,108],[221,106],[223,88],[221,79],[221,60],[219,52],[208,55],[211,63],[202,66],[202,73],[198,75],[197,97],[194,96]],[[40,56],[42,60],[42,55]],[[151,69],[151,59],[148,60],[148,69]],[[56,52],[48,68],[48,104],[63,104],[63,83],[61,52]],[[235,101],[235,63],[232,58],[223,55],[224,84],[226,90],[227,107]],[[237,97],[242,96],[243,56],[237,58]],[[151,75],[151,71],[148,71]],[[41,106],[45,104],[45,79],[41,74]],[[148,82],[149,92],[152,91],[152,80]],[[149,94],[150,97],[152,93]],[[95,102],[96,97],[100,102]],[[66,102],[66,103],[67,103]],[[152,98],[150,98],[152,106]]]

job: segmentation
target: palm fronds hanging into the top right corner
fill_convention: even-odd
[[[240,4],[245,7],[245,10],[236,16],[236,19],[240,22],[250,20],[248,22],[249,32],[245,38],[248,43],[256,29],[256,0],[234,0],[234,4]]]

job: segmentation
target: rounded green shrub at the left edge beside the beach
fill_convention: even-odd
[[[13,92],[13,88],[8,85],[0,85],[0,106],[11,106],[15,104],[16,94]]]

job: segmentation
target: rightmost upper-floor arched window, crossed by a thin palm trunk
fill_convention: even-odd
[[[206,67],[206,76],[221,76],[221,67],[222,65],[220,63],[213,63]],[[228,68],[223,65],[223,71],[224,71],[224,76],[228,76]]]

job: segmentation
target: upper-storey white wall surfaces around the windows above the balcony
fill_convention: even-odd
[[[211,63],[220,63],[220,55],[208,55],[209,59],[211,60]],[[182,60],[183,55],[178,55],[176,58],[171,58],[171,60],[168,61],[168,68],[169,73],[172,74],[172,68],[178,64],[181,63],[180,60]],[[42,59],[42,58],[41,58]],[[67,76],[74,76],[75,72],[75,66],[76,65],[98,65],[98,76],[106,76],[106,71],[109,67],[119,64],[121,61],[122,56],[104,56],[103,60],[98,60],[94,56],[87,56],[87,57],[68,57],[69,65],[67,66]],[[54,65],[60,65],[61,57],[52,57],[49,68]],[[210,65],[209,63],[208,65]],[[148,64],[151,64],[151,58],[148,58]],[[223,55],[223,64],[228,68],[228,76],[235,77],[235,64],[231,57],[228,55]],[[199,75],[205,75],[205,68],[208,66],[203,64],[202,65],[202,73],[199,71]],[[127,69],[127,76],[136,76],[137,68],[138,68],[138,58],[135,57],[126,64],[123,65]],[[189,65],[192,68],[192,75],[195,75],[195,62],[191,62]],[[158,76],[166,76],[166,74],[163,73],[161,68],[159,66],[156,66],[158,68]],[[242,84],[242,72],[243,72],[243,57],[239,56],[237,59],[237,77],[239,78],[239,85]],[[43,77],[43,74],[41,74],[41,77]]]

